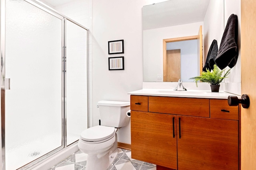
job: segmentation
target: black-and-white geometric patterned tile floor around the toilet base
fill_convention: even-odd
[[[87,154],[80,150],[49,170],[86,170]],[[118,148],[118,155],[108,170],[156,170],[156,165],[131,158],[131,151]]]

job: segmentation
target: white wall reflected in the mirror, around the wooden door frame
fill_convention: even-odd
[[[198,35],[203,22],[143,31],[143,76],[144,82],[162,82],[157,74],[163,74],[163,39]],[[197,75],[194,75],[197,76]]]

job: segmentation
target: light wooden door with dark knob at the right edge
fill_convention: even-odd
[[[241,92],[250,107],[241,108],[241,169],[256,168],[256,1],[241,0]]]

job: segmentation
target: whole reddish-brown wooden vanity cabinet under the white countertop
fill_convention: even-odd
[[[161,170],[238,170],[238,107],[227,100],[148,96],[148,111],[131,110],[132,158]]]

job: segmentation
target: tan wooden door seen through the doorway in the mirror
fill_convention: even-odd
[[[180,79],[180,49],[166,50],[166,82]]]

